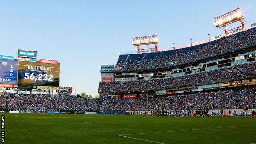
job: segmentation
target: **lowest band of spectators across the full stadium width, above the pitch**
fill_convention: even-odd
[[[6,99],[0,99],[5,107]],[[87,104],[86,104],[87,101]],[[205,91],[179,96],[137,99],[53,98],[48,96],[14,96],[9,98],[9,110],[43,107],[47,110],[219,110],[256,108],[256,88]]]

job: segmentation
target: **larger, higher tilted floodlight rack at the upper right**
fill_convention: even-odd
[[[245,30],[245,15],[242,13],[242,10],[239,7],[214,19],[215,22],[213,24],[218,28],[223,27],[226,35]],[[240,21],[242,25],[229,30],[227,25],[237,21]]]

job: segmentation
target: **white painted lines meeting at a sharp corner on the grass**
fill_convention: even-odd
[[[239,125],[239,126],[248,126],[248,125]],[[222,126],[222,127],[215,127],[215,128],[230,128],[230,127],[238,127],[238,126]],[[214,128],[197,128],[197,129],[190,129],[190,130],[174,130],[174,131],[153,132],[153,133],[171,133],[171,132],[182,132],[182,131],[191,131],[191,130],[205,130],[205,129],[214,129]],[[165,143],[161,143],[161,142],[154,142],[154,141],[149,141],[149,140],[146,140],[146,139],[139,139],[139,138],[135,138],[135,137],[125,136],[125,135],[142,135],[142,134],[152,134],[152,133],[132,133],[132,134],[117,135],[117,136],[126,137],[126,138],[130,138],[130,139],[138,139],[138,140],[142,140],[142,141],[146,141],[146,142],[152,142],[152,143],[156,143],[156,144],[165,144]],[[256,143],[252,143],[252,144],[256,144]]]

